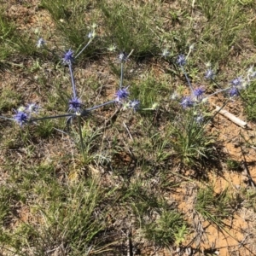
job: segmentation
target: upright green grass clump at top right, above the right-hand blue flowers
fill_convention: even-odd
[[[218,63],[230,54],[234,44],[239,44],[246,17],[241,13],[241,6],[230,0],[198,1],[207,22],[201,33],[200,50],[203,50],[207,61]],[[214,36],[212,36],[214,35]]]

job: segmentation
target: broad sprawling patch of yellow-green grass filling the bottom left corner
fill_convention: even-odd
[[[55,174],[55,166],[41,165],[23,175],[16,189],[20,193],[26,189],[27,198],[17,210],[22,216],[31,216],[32,221],[24,217],[12,232],[3,230],[2,247],[19,255],[95,255],[108,251],[107,236],[101,235],[106,229],[107,212],[102,207],[105,192],[99,189],[96,180],[67,187],[56,181]],[[108,191],[107,195],[110,194]],[[24,208],[30,197],[37,203]],[[1,207],[2,219],[7,218],[8,212],[9,208]],[[11,214],[15,212],[12,210]]]

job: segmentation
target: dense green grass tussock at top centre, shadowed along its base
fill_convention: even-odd
[[[157,40],[153,26],[154,4],[131,5],[112,1],[102,3],[106,34],[112,38],[108,44],[116,44],[119,50],[134,49],[137,58],[155,55]]]

